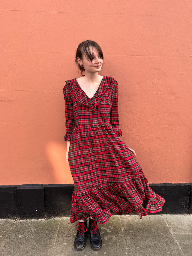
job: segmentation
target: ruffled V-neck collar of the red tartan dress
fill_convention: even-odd
[[[113,83],[114,78],[104,76],[97,89],[97,92],[92,98],[89,98],[86,93],[79,86],[76,78],[65,81],[70,84],[70,95],[72,98],[76,98],[81,104],[86,107],[86,110],[95,111],[97,106],[100,105],[104,98],[103,95],[107,92],[109,86]]]

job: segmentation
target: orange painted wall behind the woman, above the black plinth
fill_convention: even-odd
[[[122,141],[150,183],[192,182],[192,2],[1,1],[0,185],[73,183],[65,80],[85,39],[119,83]]]

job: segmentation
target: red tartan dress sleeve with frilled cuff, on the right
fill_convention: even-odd
[[[122,130],[119,128],[119,112],[118,112],[118,83],[114,80],[115,86],[113,89],[111,97],[111,113],[110,113],[110,122],[113,128],[113,131],[116,133],[117,137],[122,136]]]

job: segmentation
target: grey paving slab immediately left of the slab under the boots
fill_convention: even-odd
[[[19,220],[7,233],[1,245],[2,256],[50,255],[58,230],[59,218]]]

